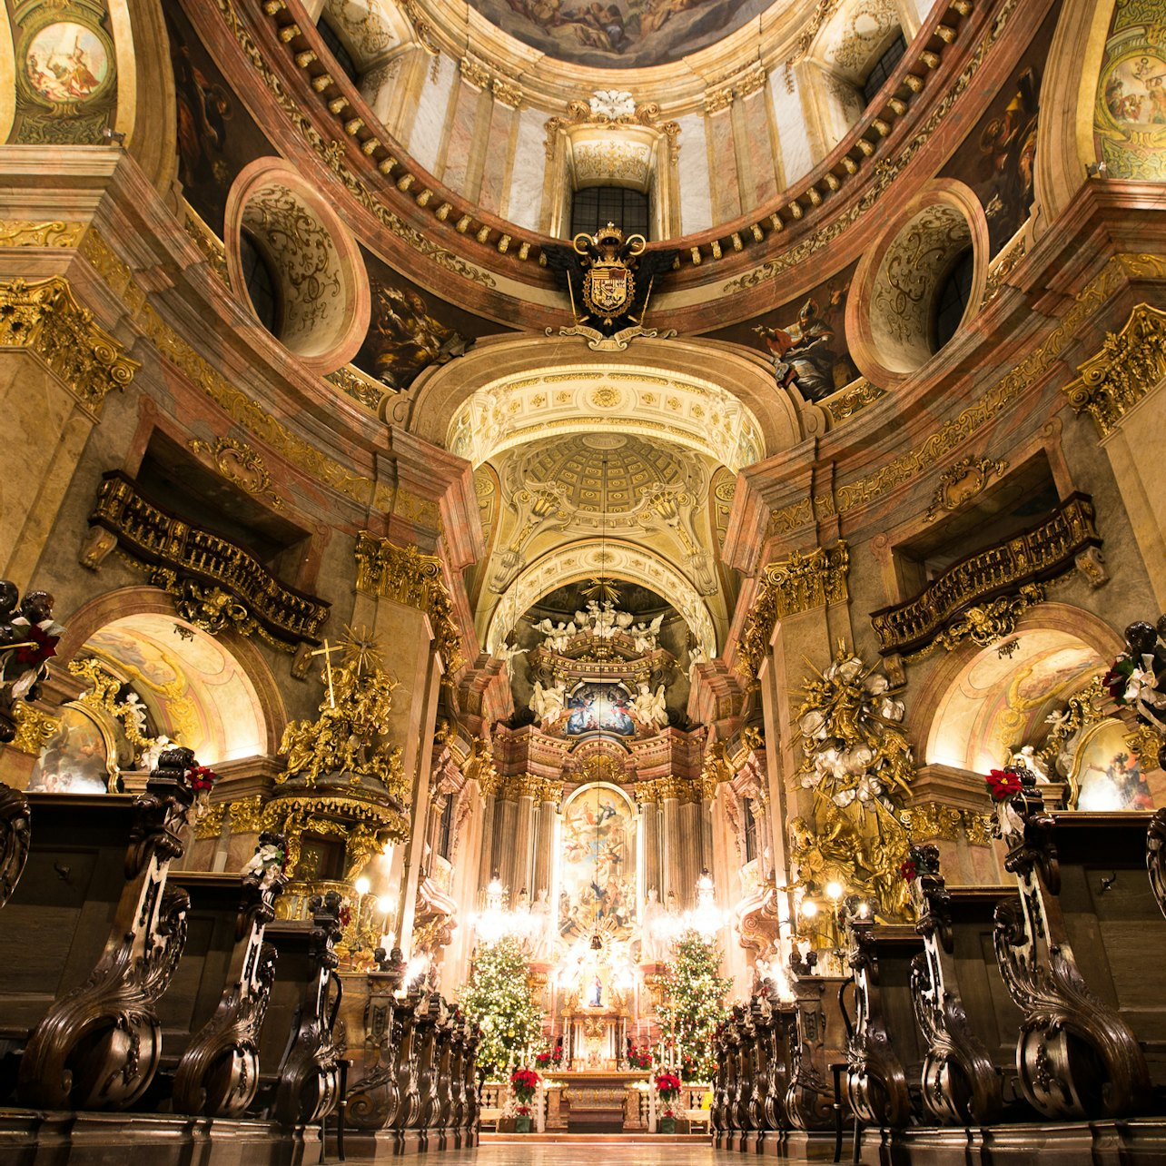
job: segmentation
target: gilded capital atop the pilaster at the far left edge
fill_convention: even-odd
[[[28,283],[0,282],[0,347],[35,352],[83,405],[99,409],[106,393],[124,388],[141,367],[125,346],[93,322],[61,275]]]

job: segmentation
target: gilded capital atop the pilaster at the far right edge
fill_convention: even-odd
[[[1077,367],[1065,386],[1069,403],[1088,413],[1104,437],[1146,393],[1166,378],[1166,311],[1139,303],[1121,332],[1109,332],[1101,351]]]

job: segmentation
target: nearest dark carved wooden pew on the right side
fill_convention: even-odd
[[[1166,927],[1143,871],[1149,813],[1045,812],[1035,779],[997,805],[1019,900],[996,953],[1023,1012],[1020,1089],[1048,1118],[1151,1111],[1166,1083]],[[1147,1055],[1149,1054],[1149,1055]],[[1153,1066],[1153,1075],[1151,1074]]]

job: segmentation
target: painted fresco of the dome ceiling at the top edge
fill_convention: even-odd
[[[772,0],[472,0],[491,23],[574,64],[644,69],[707,48]]]

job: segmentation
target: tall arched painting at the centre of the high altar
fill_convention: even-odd
[[[563,810],[559,933],[624,939],[635,925],[635,817],[611,786],[584,786]]]

